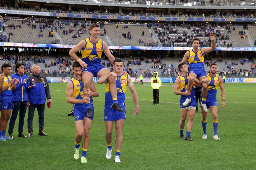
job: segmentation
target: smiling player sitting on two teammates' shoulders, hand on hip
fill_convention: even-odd
[[[88,28],[89,34],[91,35],[89,38],[80,41],[73,47],[69,55],[75,61],[78,61],[80,65],[82,65],[82,80],[84,83],[83,92],[90,90],[90,83],[93,77],[101,77],[110,71],[101,65],[101,54],[102,52],[105,53],[109,61],[113,64],[114,56],[110,53],[107,43],[99,39],[100,36],[100,26],[98,24],[91,24]],[[81,50],[82,59],[80,59],[76,52]],[[107,78],[109,82],[109,91],[111,93],[113,99],[112,108],[116,109],[117,111],[123,111],[123,109],[119,106],[117,101],[117,90],[115,79],[113,76],[109,76]],[[86,98],[86,97],[85,97]],[[87,99],[88,100],[88,99]],[[92,108],[90,102],[86,103],[87,107],[87,116],[92,117]]]

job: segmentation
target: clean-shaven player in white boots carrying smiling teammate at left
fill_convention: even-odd
[[[137,115],[139,113],[139,102],[136,90],[131,81],[131,77],[129,75],[124,75],[122,70],[124,68],[124,60],[115,59],[113,62],[114,74],[110,72],[104,76],[101,76],[98,79],[98,83],[102,84],[106,82],[106,94],[105,94],[105,109],[104,109],[104,120],[106,125],[106,140],[107,140],[107,153],[106,158],[111,159],[112,155],[112,131],[113,131],[113,122],[116,122],[116,153],[115,153],[115,162],[120,161],[120,150],[123,142],[123,125],[125,123],[125,91],[128,87],[132,94],[132,99],[135,103],[135,108],[133,113]],[[117,76],[116,76],[117,75]],[[117,99],[118,103],[121,104],[121,107],[124,111],[118,112],[114,110],[111,101],[111,94],[109,91],[109,82],[107,82],[107,78],[109,76],[116,76],[116,87],[117,87]]]

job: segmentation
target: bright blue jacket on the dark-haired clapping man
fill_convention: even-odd
[[[12,78],[16,78],[20,81],[19,84],[16,85],[15,92],[12,93],[12,100],[15,101],[28,101],[27,87],[30,85],[29,80],[27,79],[27,83],[22,83],[25,78],[28,78],[24,74],[19,75],[18,73],[11,76]]]

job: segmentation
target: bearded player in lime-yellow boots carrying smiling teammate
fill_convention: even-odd
[[[86,163],[86,153],[87,148],[89,145],[89,133],[90,128],[92,125],[92,120],[94,117],[94,108],[93,108],[93,97],[98,97],[99,92],[97,91],[94,82],[92,81],[90,84],[90,90],[86,91],[85,94],[83,93],[83,82],[82,82],[82,66],[75,61],[73,63],[73,72],[74,77],[68,82],[67,84],[67,102],[74,104],[74,115],[75,115],[75,124],[76,124],[76,137],[75,137],[75,149],[74,149],[74,158],[77,160],[79,158],[79,148],[80,148],[80,142],[83,138],[82,143],[82,156],[81,156],[81,162]],[[87,98],[84,98],[84,95],[87,96]],[[87,111],[86,111],[86,102],[90,102],[91,108],[92,108],[92,117],[88,118]]]

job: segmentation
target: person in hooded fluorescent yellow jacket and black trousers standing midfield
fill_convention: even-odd
[[[152,105],[159,105],[159,88],[161,87],[162,82],[161,79],[158,77],[158,72],[154,72],[154,77],[151,78],[151,87],[153,88],[153,104]]]

